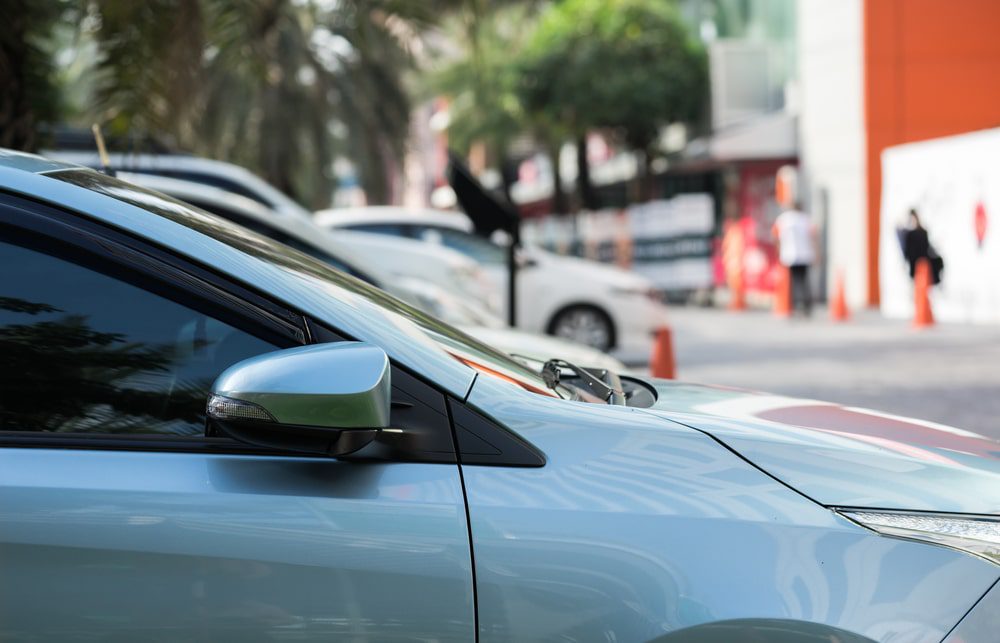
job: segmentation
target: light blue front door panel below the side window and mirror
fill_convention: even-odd
[[[3,640],[473,638],[456,465],[0,448],[0,489]]]

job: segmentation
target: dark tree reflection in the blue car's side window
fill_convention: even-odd
[[[62,312],[0,297],[0,310]],[[210,382],[168,387],[174,347],[126,342],[92,329],[83,315],[0,326],[0,429],[190,434],[201,429]],[[142,386],[152,375],[157,386]],[[164,390],[164,389],[167,390]],[[169,425],[169,427],[168,427]]]

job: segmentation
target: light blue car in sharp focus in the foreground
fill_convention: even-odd
[[[540,377],[220,217],[12,152],[0,269],[4,640],[996,633],[995,441]]]

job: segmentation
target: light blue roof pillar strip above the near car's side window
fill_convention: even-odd
[[[440,345],[417,330],[411,321],[387,313],[346,289],[261,261],[163,216],[49,176],[0,164],[0,185],[15,194],[83,213],[172,248],[183,256],[270,293],[287,306],[322,319],[354,339],[375,341],[391,359],[423,373],[437,386],[459,398],[465,397],[475,377],[472,369],[458,363]],[[155,196],[148,198],[160,207],[175,208],[179,216],[190,216],[192,212],[179,202]],[[230,225],[214,216],[204,216],[199,222],[206,227]]]

